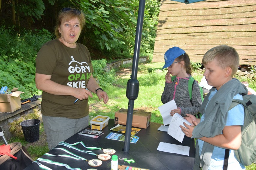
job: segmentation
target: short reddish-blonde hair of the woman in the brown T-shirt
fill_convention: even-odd
[[[67,10],[63,10],[63,9],[67,9]],[[61,34],[59,33],[59,27],[62,21],[68,21],[70,19],[77,18],[80,23],[81,30],[85,25],[84,13],[82,11],[75,8],[63,8],[63,9],[59,12],[55,30],[54,30],[54,33],[57,39],[61,37]]]

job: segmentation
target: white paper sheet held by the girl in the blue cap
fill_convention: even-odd
[[[171,100],[164,105],[158,107],[162,117],[163,117],[163,125],[170,124],[172,120],[172,116],[170,115],[171,110],[177,109],[177,105],[174,100]]]

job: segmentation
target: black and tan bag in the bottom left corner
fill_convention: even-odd
[[[0,170],[23,170],[33,163],[33,160],[29,156],[26,148],[22,146],[20,142],[14,142],[9,145],[11,148],[11,152],[9,154],[17,157],[17,160],[7,154],[1,155]]]

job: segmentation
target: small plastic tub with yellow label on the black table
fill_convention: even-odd
[[[103,128],[105,128],[106,125],[108,125],[108,120],[109,120],[108,116],[98,115],[98,116],[94,117],[90,121],[91,129],[101,131]]]

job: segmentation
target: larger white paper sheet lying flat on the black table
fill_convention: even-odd
[[[157,147],[157,150],[189,156],[189,146],[181,146],[181,145],[174,145],[170,143],[160,142]]]

